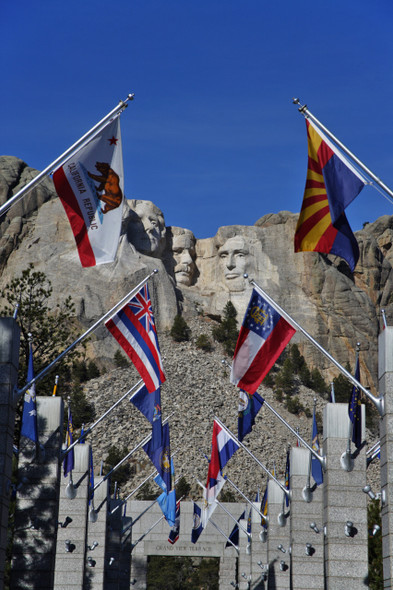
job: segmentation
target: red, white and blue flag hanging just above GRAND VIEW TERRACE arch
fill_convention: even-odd
[[[204,505],[202,509],[202,525],[206,524],[213,514],[217,504],[216,498],[225,483],[222,470],[239,445],[224,430],[216,420],[213,423],[213,436],[209,470],[207,473],[206,487],[203,490]]]

